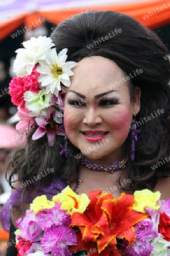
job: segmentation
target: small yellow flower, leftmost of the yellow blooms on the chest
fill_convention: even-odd
[[[50,209],[55,206],[53,201],[49,201],[45,195],[37,196],[32,204],[30,204],[30,209],[34,211],[34,213],[39,212],[42,209]]]

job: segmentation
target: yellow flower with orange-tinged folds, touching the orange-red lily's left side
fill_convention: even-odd
[[[90,204],[90,199],[88,199],[86,194],[78,196],[69,186],[63,189],[57,196],[53,196],[52,201],[60,202],[61,209],[65,209],[71,215],[74,212],[83,213],[88,204]]]

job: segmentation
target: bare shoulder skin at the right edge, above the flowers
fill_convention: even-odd
[[[170,176],[169,177],[159,177],[158,183],[154,188],[155,191],[160,191],[161,200],[166,200],[170,197]]]

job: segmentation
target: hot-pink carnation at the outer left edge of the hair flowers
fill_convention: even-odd
[[[27,89],[24,86],[22,77],[13,77],[9,84],[9,88],[12,103],[16,106],[20,105],[22,108],[24,108],[24,93],[27,91]]]

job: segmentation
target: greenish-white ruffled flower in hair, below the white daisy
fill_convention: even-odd
[[[42,110],[48,108],[52,103],[52,94],[40,90],[39,93],[33,93],[30,90],[24,93],[25,107],[31,111],[31,117],[41,115]]]

